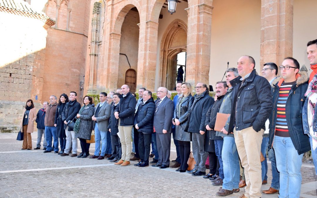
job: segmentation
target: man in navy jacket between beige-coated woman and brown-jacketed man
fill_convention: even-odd
[[[46,150],[46,136],[45,136],[45,125],[44,125],[44,118],[46,115],[46,107],[49,103],[48,102],[43,102],[43,108],[40,109],[37,112],[36,115],[36,120],[35,122],[37,123],[36,128],[37,128],[37,143],[36,143],[36,148],[34,150],[40,149],[41,148],[41,141],[42,141],[42,135],[44,134],[44,139],[43,139],[43,150]]]

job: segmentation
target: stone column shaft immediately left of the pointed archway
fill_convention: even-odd
[[[140,19],[141,20],[141,19]],[[139,24],[137,90],[154,91],[159,23],[151,20]]]

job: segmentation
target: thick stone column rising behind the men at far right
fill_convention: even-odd
[[[293,0],[261,1],[261,68],[293,54]]]

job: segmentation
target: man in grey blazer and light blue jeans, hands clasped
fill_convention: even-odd
[[[99,94],[100,103],[95,108],[95,113],[92,117],[94,120],[94,131],[95,131],[95,153],[93,156],[89,157],[91,159],[104,159],[107,147],[107,131],[108,131],[108,123],[110,117],[111,107],[106,102],[107,93],[101,92]],[[101,153],[100,151],[100,139],[102,142]]]

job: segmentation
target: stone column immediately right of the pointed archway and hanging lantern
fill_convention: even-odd
[[[212,1],[191,4],[188,12],[186,81],[209,85]]]

